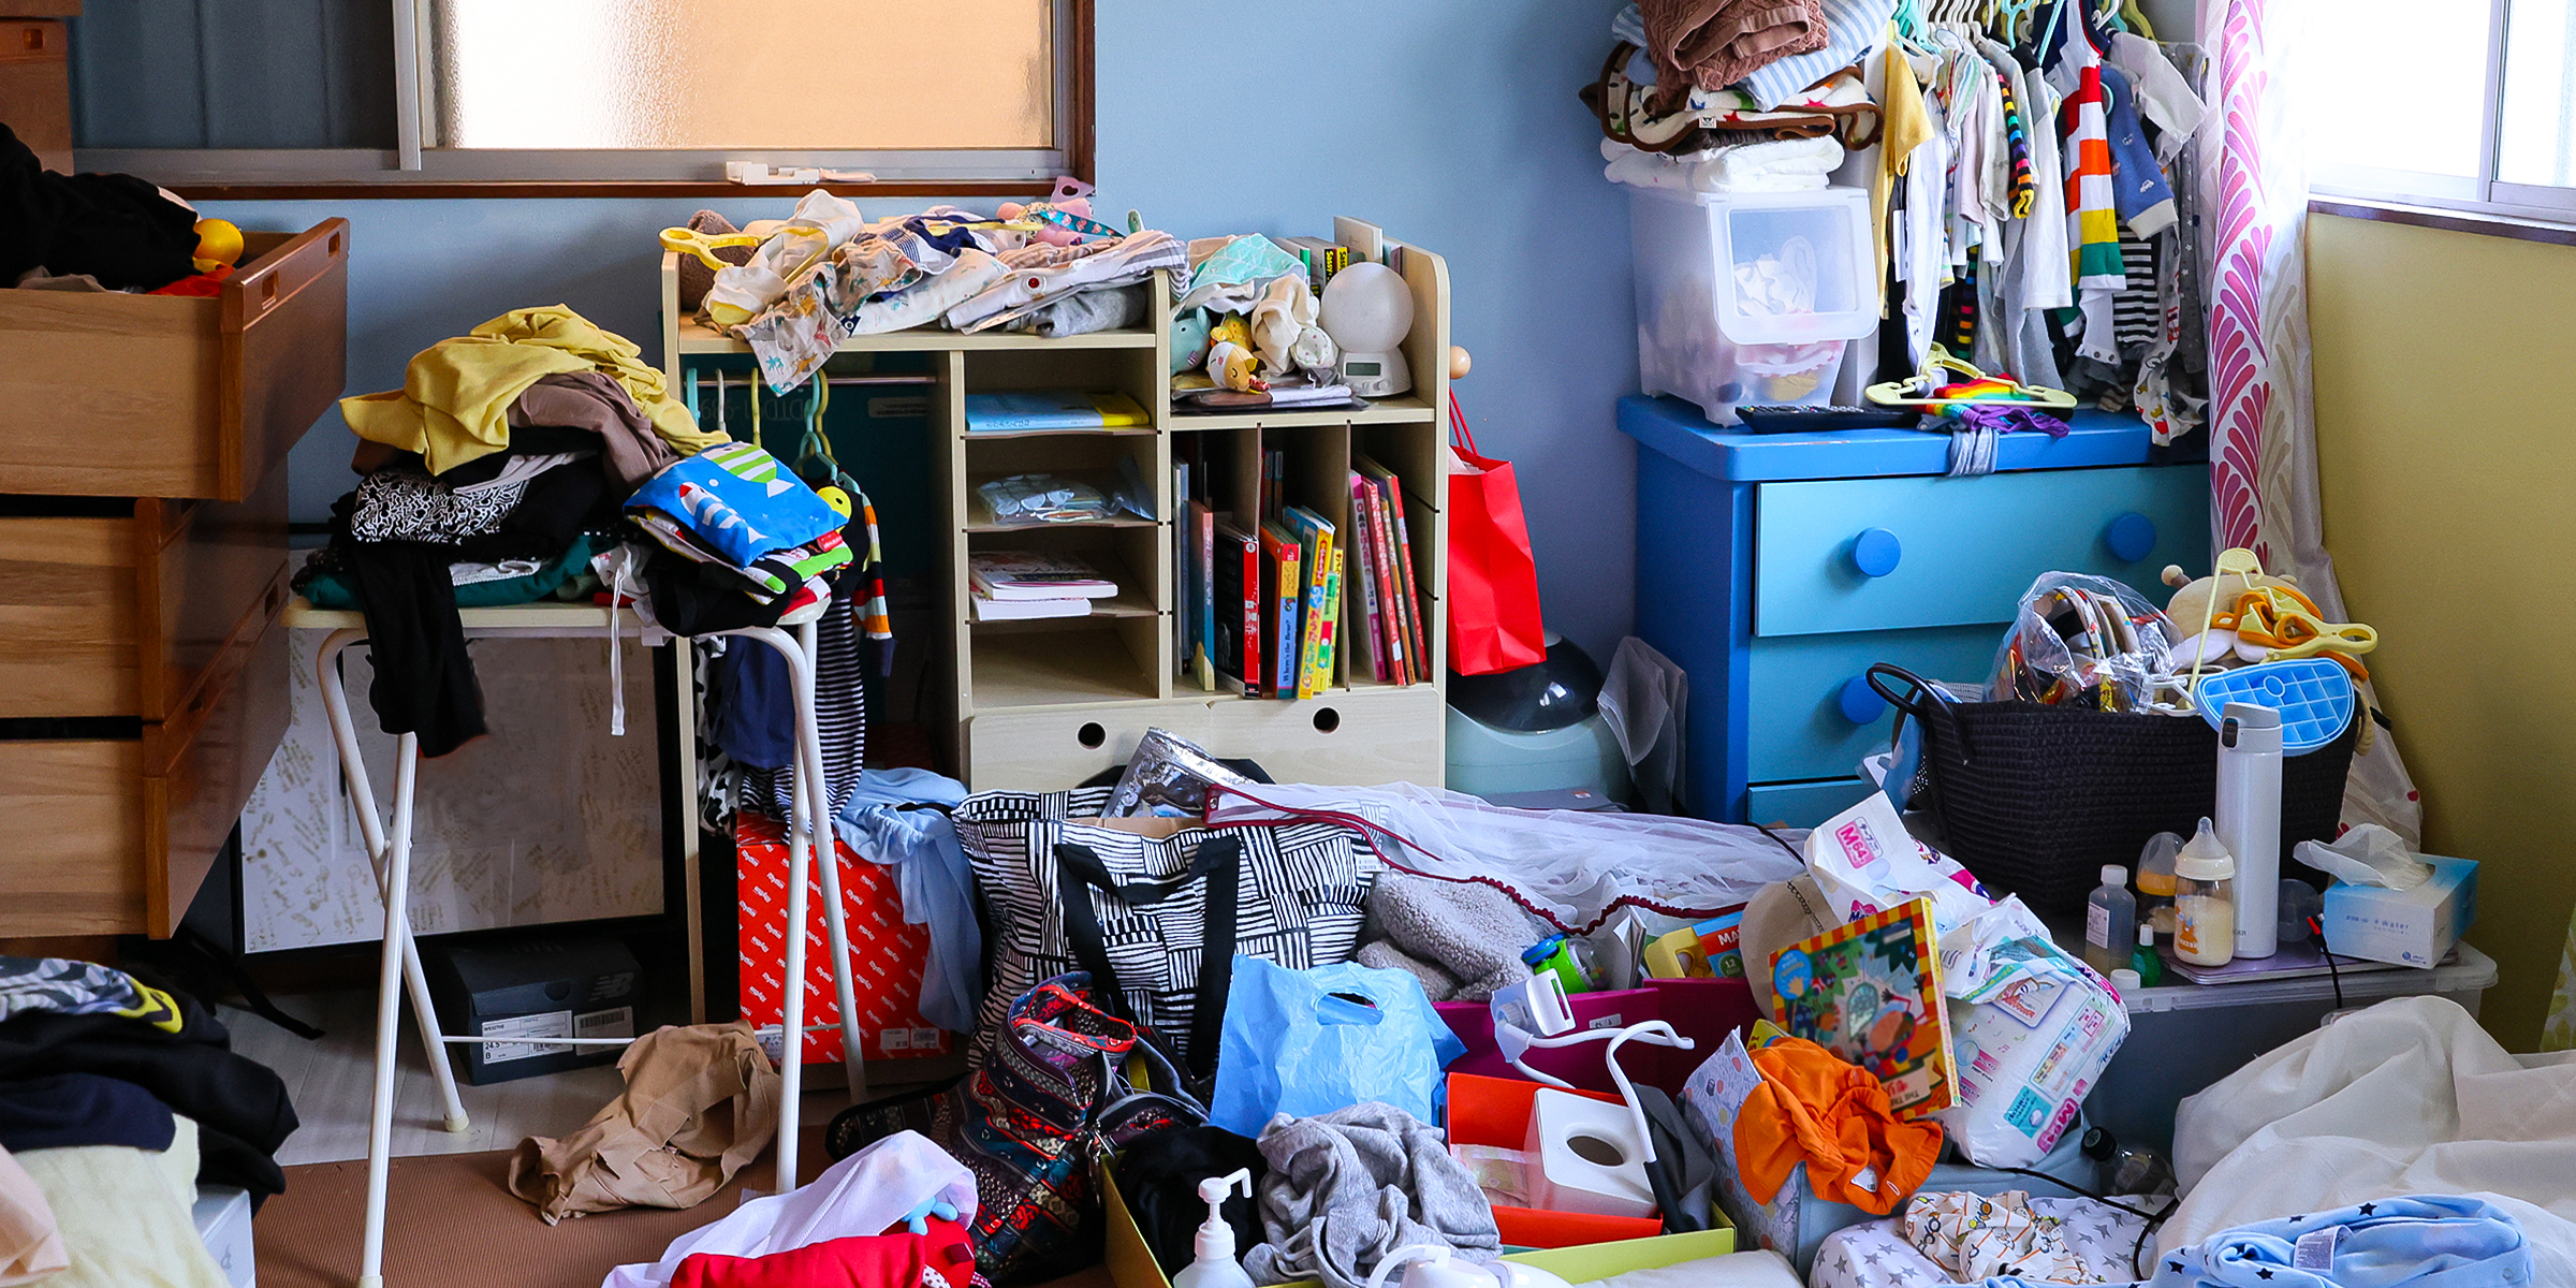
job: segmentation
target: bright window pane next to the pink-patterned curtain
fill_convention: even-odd
[[[2517,13],[2524,5],[2530,0],[2514,0]],[[2334,0],[2303,8],[2300,111],[2308,116],[2311,165],[2478,178],[2483,3]],[[2396,46],[2403,46],[2403,77],[2391,72]]]

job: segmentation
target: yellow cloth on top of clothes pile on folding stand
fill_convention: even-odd
[[[510,446],[510,404],[538,379],[603,371],[683,456],[724,443],[665,392],[662,374],[644,366],[641,353],[562,304],[513,309],[415,353],[402,389],[340,399],[340,415],[358,438],[417,451],[430,474],[446,474]]]

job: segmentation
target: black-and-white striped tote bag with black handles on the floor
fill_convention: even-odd
[[[1123,999],[1190,1077],[1206,1077],[1236,953],[1303,971],[1358,951],[1378,858],[1347,827],[1100,819],[1108,796],[984,791],[956,806],[992,917],[974,1064],[1015,997],[1090,971],[1097,997]]]

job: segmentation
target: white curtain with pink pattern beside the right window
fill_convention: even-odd
[[[2344,613],[2316,484],[2308,386],[2308,170],[2293,52],[2324,0],[2200,0],[2210,57],[2200,137],[2210,247],[2210,536],[2295,577],[2331,621]],[[2378,701],[2372,701],[2378,706]],[[2385,729],[2370,729],[2344,822],[2421,840],[2424,806]]]

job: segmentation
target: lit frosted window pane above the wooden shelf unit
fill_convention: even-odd
[[[1051,0],[435,0],[435,147],[1056,147]]]

